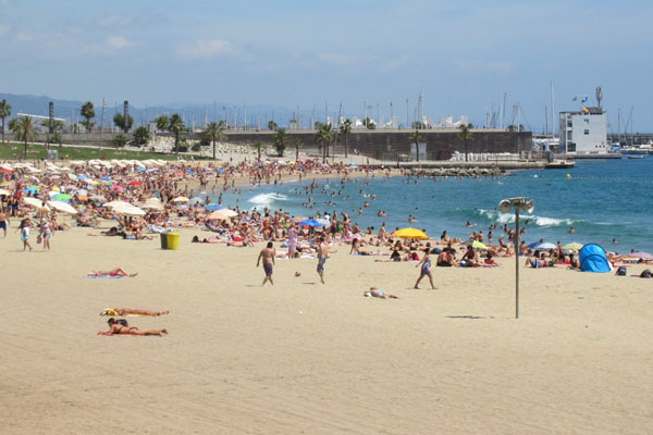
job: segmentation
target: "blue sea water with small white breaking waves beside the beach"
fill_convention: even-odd
[[[262,211],[283,209],[293,215],[312,216],[336,210],[346,212],[361,227],[378,229],[383,222],[390,231],[412,226],[426,229],[439,238],[443,231],[451,237],[467,238],[472,231],[488,233],[490,224],[497,225],[494,240],[504,224],[514,225],[514,213],[500,213],[496,208],[503,198],[534,199],[532,213],[520,215],[526,225],[527,243],[543,238],[563,244],[596,243],[608,251],[630,249],[653,252],[653,157],[641,160],[580,160],[568,170],[517,171],[514,176],[480,179],[356,176],[341,185],[341,178],[318,179],[319,188],[311,195],[313,207],[304,208],[307,196],[303,182],[283,185],[244,187],[243,195],[224,195],[223,203],[241,209]],[[322,194],[324,187],[325,194]],[[298,192],[297,192],[298,190]],[[332,196],[332,192],[342,195]],[[301,194],[301,195],[299,195]],[[371,196],[375,195],[375,200]],[[324,204],[335,202],[335,207]],[[365,202],[369,208],[364,208]],[[358,213],[364,208],[364,214]],[[379,217],[383,210],[386,216]],[[416,222],[409,223],[412,215]],[[465,226],[467,222],[476,226]],[[570,234],[574,227],[576,233]]]

